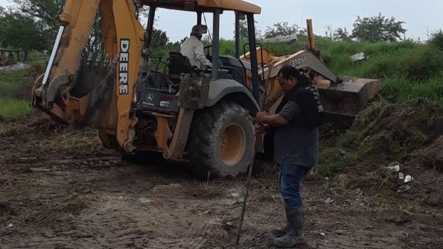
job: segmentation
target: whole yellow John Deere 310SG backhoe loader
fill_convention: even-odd
[[[141,5],[149,6],[146,28],[137,19]],[[213,14],[212,54],[207,55],[212,68],[192,68],[174,52],[167,62],[151,60],[159,8],[195,12],[198,25],[202,14]],[[224,11],[236,16],[235,57],[219,55]],[[104,53],[85,50],[97,12]],[[125,155],[158,153],[189,160],[200,176],[235,177],[250,164],[252,117],[268,74],[272,87],[267,88],[266,109],[272,112],[282,96],[275,84],[282,65],[290,63],[312,77],[330,113],[355,115],[380,86],[379,81],[337,77],[310,50],[273,56],[255,41],[254,15],[260,12],[242,0],[139,0],[136,8],[131,0],[66,0],[46,72],[32,90],[32,104],[58,122],[98,128],[103,145]],[[248,21],[248,53],[246,46],[240,51],[242,17]],[[163,63],[165,69],[152,70],[153,63]],[[262,148],[258,144],[256,149],[263,153]]]

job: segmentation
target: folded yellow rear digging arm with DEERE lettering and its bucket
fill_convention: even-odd
[[[97,11],[103,52],[90,47]],[[60,30],[45,74],[32,90],[32,104],[54,120],[99,128],[105,147],[132,151],[130,111],[145,31],[130,0],[66,0]]]

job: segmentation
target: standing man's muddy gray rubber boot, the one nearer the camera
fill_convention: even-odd
[[[305,244],[303,232],[303,208],[286,207],[288,231],[285,236],[274,239],[274,245],[280,248],[291,248]]]

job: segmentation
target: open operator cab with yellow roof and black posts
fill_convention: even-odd
[[[189,59],[183,56],[179,51],[169,52],[166,61],[160,59],[151,58],[150,73],[146,73],[142,77],[139,77],[139,82],[136,86],[137,103],[135,109],[142,112],[161,112],[165,114],[176,114],[180,110],[180,83],[181,75],[183,73],[190,74],[192,78],[202,77],[203,74],[209,74],[211,82],[219,80],[235,81],[239,85],[245,86],[251,89],[252,86],[248,86],[247,83],[247,70],[252,70],[252,74],[257,75],[255,81],[257,82],[256,90],[254,90],[254,98],[258,102],[258,67],[251,66],[251,63],[243,62],[240,60],[240,19],[248,17],[249,24],[249,44],[250,50],[255,51],[255,28],[253,21],[254,13],[235,11],[235,56],[219,55],[220,48],[220,15],[226,9],[220,9],[221,2],[232,8],[238,8],[238,5],[244,5],[246,9],[256,7],[253,4],[243,2],[241,0],[206,0],[204,6],[199,5],[200,0],[139,0],[136,1],[136,5],[149,6],[148,24],[146,27],[147,37],[144,47],[151,47],[151,40],[153,37],[154,21],[156,16],[156,10],[159,8],[174,9],[181,11],[189,11],[196,13],[197,25],[206,33],[207,26],[202,25],[202,15],[204,13],[213,14],[213,33],[212,33],[212,45],[204,47],[204,53],[206,58],[212,62],[212,68],[207,67],[204,70],[192,66]],[[209,5],[209,6],[208,6]],[[240,6],[241,8],[242,6]],[[255,10],[255,13],[259,13],[260,9]],[[206,20],[205,20],[206,22]],[[245,47],[243,48],[245,50]],[[245,53],[245,51],[243,51]],[[255,61],[252,63],[257,65],[256,54]],[[253,79],[254,81],[254,79]],[[210,83],[211,84],[211,83]],[[253,82],[253,84],[255,84]]]

